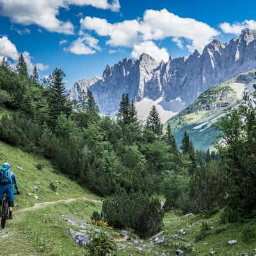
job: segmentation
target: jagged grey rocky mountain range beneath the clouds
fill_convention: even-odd
[[[213,40],[202,54],[195,51],[188,58],[170,58],[167,63],[158,63],[142,54],[140,60],[124,59],[113,67],[108,65],[101,78],[78,81],[69,98],[77,99],[90,88],[100,111],[115,115],[122,94],[129,93],[137,102],[153,101],[171,117],[208,88],[255,68],[255,47],[256,31],[243,29],[239,38],[227,44]],[[144,117],[141,111],[144,110],[138,108],[139,116]]]

